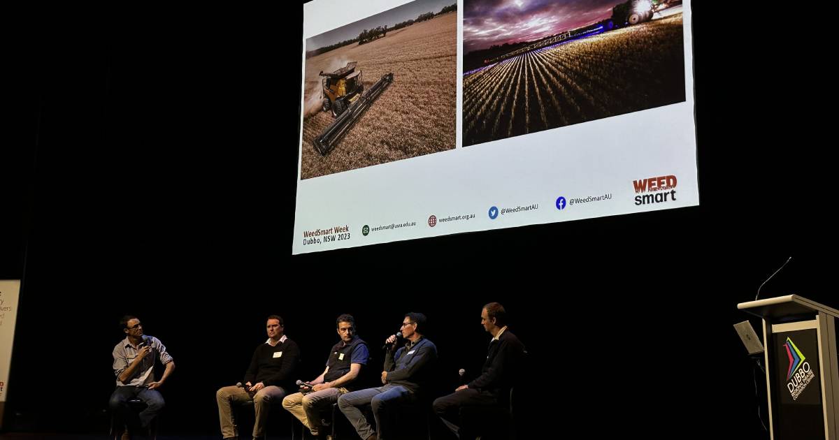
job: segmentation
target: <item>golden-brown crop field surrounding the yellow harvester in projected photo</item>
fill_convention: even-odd
[[[305,61],[300,179],[455,148],[457,14],[401,28],[367,44],[350,44]],[[364,90],[393,72],[393,83],[326,156],[313,142],[334,121],[320,111],[321,70],[356,61]]]

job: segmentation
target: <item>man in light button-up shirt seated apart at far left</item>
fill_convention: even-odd
[[[111,412],[114,415],[114,429],[117,435],[126,427],[128,401],[138,398],[145,402],[146,409],[139,413],[139,428],[148,430],[149,423],[164,407],[163,396],[157,389],[175,370],[175,361],[166,352],[160,339],[143,335],[143,324],[136,316],[123,316],[119,322],[126,338],[113,348],[113,372],[117,375],[117,389],[111,395]],[[154,380],[154,358],[166,366],[163,377]]]

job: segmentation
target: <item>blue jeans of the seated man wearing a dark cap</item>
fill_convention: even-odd
[[[404,386],[388,384],[378,388],[348,392],[338,397],[338,408],[356,428],[359,437],[367,439],[378,430],[378,438],[386,440],[395,435],[392,424],[399,405],[414,401],[416,401],[416,396]],[[367,418],[361,411],[361,407],[367,404],[373,406],[376,430],[367,423]]]

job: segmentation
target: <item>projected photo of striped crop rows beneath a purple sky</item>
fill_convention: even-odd
[[[465,0],[463,145],[685,101],[681,3]]]

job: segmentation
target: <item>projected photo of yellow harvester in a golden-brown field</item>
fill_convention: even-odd
[[[456,147],[452,3],[417,0],[306,39],[300,179]]]

